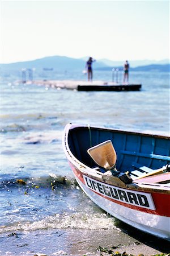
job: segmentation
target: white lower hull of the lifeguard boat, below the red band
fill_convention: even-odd
[[[75,175],[75,179],[78,182],[80,188],[86,193],[88,197],[101,209],[112,216],[118,218],[118,220],[124,221],[126,224],[133,226],[143,232],[153,234],[160,238],[169,240],[170,237],[170,218],[160,215],[155,215],[146,212],[140,212],[124,205],[114,203],[113,201],[107,200],[98,193],[88,188],[86,184]],[[167,205],[168,207],[168,205]]]

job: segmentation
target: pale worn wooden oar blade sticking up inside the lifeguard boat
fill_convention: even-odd
[[[87,152],[99,166],[107,170],[111,170],[116,164],[116,151],[110,140],[89,148]]]

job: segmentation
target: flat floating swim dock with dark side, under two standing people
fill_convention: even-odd
[[[30,81],[27,83],[30,84]],[[105,82],[101,80],[94,81],[76,81],[76,80],[35,80],[31,84],[44,85],[46,87],[72,89],[79,91],[131,91],[140,90],[141,84],[120,84],[117,82]]]

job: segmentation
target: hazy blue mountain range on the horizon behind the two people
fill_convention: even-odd
[[[42,59],[36,59],[31,61],[22,61],[10,64],[1,64],[2,75],[7,75],[12,73],[12,71],[20,72],[22,68],[35,68],[36,71],[82,71],[86,65],[88,57],[81,59],[74,59],[66,56],[49,56]],[[157,61],[156,63],[151,63],[150,65],[142,65],[142,63],[150,62],[150,60],[141,61],[129,61],[131,71],[169,71],[169,60]],[[139,63],[138,67],[133,67],[133,65]],[[112,68],[123,68],[122,61],[111,61],[107,59],[101,59],[95,61],[93,64],[96,70],[111,70]]]

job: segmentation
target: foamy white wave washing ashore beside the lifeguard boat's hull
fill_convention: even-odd
[[[83,213],[56,214],[55,216],[45,217],[40,221],[15,222],[10,226],[0,226],[0,233],[17,231],[35,231],[44,229],[88,229],[88,230],[117,230],[114,225],[114,218],[108,217],[105,213]]]

